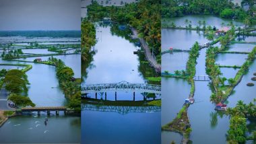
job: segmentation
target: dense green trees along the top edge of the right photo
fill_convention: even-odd
[[[162,17],[205,14],[256,24],[253,11],[255,11],[255,6],[252,6],[249,11],[245,11],[230,0],[162,0]]]

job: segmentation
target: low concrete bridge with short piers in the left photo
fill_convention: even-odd
[[[47,106],[47,107],[22,108],[22,112],[38,112],[38,115],[40,115],[40,112],[47,112],[47,115],[50,115],[51,111],[55,111],[56,115],[59,115],[59,111],[64,111],[64,113],[66,113],[67,108],[65,106]]]

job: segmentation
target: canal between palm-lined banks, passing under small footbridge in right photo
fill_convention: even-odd
[[[195,75],[205,75],[205,52],[206,48],[200,50]],[[210,102],[211,94],[210,81],[195,81],[195,103],[188,110],[193,143],[226,143],[229,120],[214,110],[215,105]]]

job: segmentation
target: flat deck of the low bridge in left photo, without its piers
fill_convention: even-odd
[[[48,106],[48,107],[29,107],[29,108],[22,108],[22,112],[32,112],[32,111],[65,111],[67,108],[65,106]]]

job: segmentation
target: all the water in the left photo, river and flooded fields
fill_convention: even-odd
[[[11,40],[17,42],[24,42],[26,40],[28,40],[28,42],[33,41],[32,38],[24,38],[20,40],[20,37],[9,37],[9,40],[8,38],[3,39],[5,39],[7,42],[10,42]],[[67,40],[66,38],[63,39],[64,40],[61,38],[56,38],[56,41]],[[38,38],[36,40],[47,41],[51,40],[51,38]],[[13,42],[13,44],[17,43]],[[49,52],[46,49],[23,49],[22,51],[34,54],[54,53]],[[80,55],[65,55],[56,57],[58,59],[62,59],[67,66],[74,70],[75,77],[80,77]],[[36,58],[32,57],[26,59],[26,61],[33,61],[34,59]],[[55,67],[38,63],[3,61],[2,59],[0,59],[0,63],[32,65],[32,69],[26,72],[28,75],[28,81],[30,82],[30,85],[28,85],[28,97],[30,97],[36,106],[66,105],[67,100],[62,90],[59,88]],[[8,67],[9,69],[17,69],[16,66],[0,66],[1,69]],[[22,69],[22,67],[19,67],[19,69]],[[41,112],[41,116],[37,116],[37,113],[33,113],[9,118],[7,122],[5,122],[5,124],[3,124],[3,126],[0,128],[0,143],[79,143],[81,141],[81,122],[79,116],[65,116],[63,112],[60,112],[59,116],[56,116],[55,112],[51,112],[51,116],[48,116],[49,122],[46,126],[44,126],[45,117],[46,113]]]

